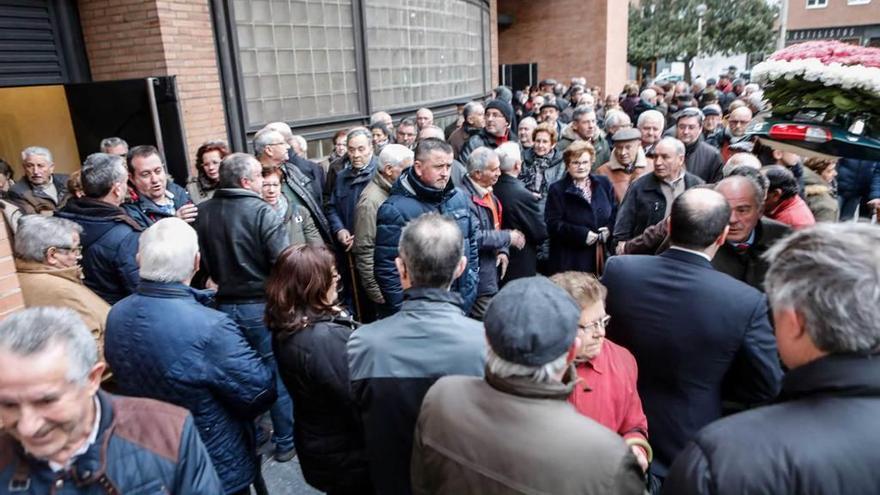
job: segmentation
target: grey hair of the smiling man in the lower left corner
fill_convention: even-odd
[[[69,361],[67,380],[84,384],[98,362],[98,346],[76,311],[58,307],[27,308],[0,323],[0,349],[17,356],[33,356],[53,344],[64,346],[64,355]]]

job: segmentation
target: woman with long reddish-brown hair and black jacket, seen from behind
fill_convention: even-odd
[[[306,481],[330,495],[371,493],[346,344],[357,323],[337,303],[339,274],[323,247],[285,249],[266,282],[266,322],[293,401]]]

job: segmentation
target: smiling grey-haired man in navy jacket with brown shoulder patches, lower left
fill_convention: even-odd
[[[73,310],[0,323],[3,492],[223,493],[187,411],[99,391],[106,367]]]

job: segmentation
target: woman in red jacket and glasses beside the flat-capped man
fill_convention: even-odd
[[[629,351],[605,338],[605,287],[589,273],[563,272],[550,280],[562,287],[581,308],[575,357],[577,387],[568,397],[577,411],[617,432],[632,448],[642,469],[648,469],[648,418],[636,382],[639,370]]]

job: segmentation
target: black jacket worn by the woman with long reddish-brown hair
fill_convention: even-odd
[[[326,316],[295,333],[273,332],[281,379],[293,398],[303,476],[330,493],[371,493],[364,435],[349,387],[351,318]]]

